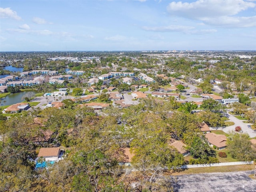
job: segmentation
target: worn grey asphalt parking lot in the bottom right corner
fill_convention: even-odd
[[[254,171],[192,174],[177,176],[178,192],[256,192]]]

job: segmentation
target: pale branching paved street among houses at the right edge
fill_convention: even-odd
[[[228,115],[229,115],[228,118],[235,124],[232,126],[223,128],[224,132],[234,131],[236,126],[240,126],[242,128],[242,131],[248,133],[250,137],[256,137],[256,132],[254,132],[252,129],[248,128],[247,126],[247,125],[251,125],[250,123],[244,123],[243,120],[239,120],[238,118],[234,117],[229,113]]]

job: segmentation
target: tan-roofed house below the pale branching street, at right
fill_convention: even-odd
[[[206,133],[205,137],[208,139],[210,146],[216,146],[218,150],[226,148],[227,137],[215,133]]]

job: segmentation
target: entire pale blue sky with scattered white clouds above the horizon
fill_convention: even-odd
[[[1,0],[0,51],[256,50],[256,0]]]

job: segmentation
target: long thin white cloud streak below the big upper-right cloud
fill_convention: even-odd
[[[169,26],[161,26],[161,27],[143,26],[142,29],[144,29],[146,31],[154,31],[154,32],[185,32],[187,30],[194,29],[194,27],[192,27],[192,26],[180,26],[180,25],[169,25]]]

